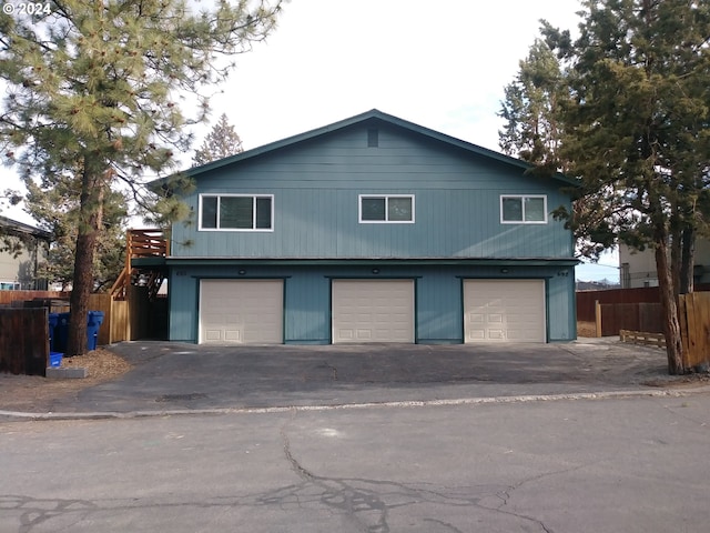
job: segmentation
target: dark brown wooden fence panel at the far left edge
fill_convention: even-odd
[[[48,359],[47,308],[0,309],[0,372],[44,375]]]

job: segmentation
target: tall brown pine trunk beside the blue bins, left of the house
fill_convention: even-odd
[[[93,291],[93,259],[103,214],[103,183],[97,175],[89,175],[89,171],[84,171],[82,179],[80,209],[74,276],[69,300],[71,318],[67,336],[67,356],[81,355],[88,351],[87,313],[89,295]]]

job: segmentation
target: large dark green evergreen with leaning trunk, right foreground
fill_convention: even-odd
[[[582,3],[577,41],[545,29],[572,64],[561,157],[598,209],[594,237],[655,250],[668,368],[683,373],[669,251],[710,214],[710,4]]]

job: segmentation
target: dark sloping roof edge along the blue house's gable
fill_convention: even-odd
[[[408,122],[406,120],[399,119],[397,117],[394,117],[392,114],[387,114],[387,113],[383,113],[382,111],[377,110],[377,109],[372,109],[365,113],[362,114],[356,114],[355,117],[351,117],[348,119],[344,119],[341,120],[338,122],[334,122],[332,124],[328,125],[324,125],[322,128],[316,128],[315,130],[311,130],[311,131],[306,131],[304,133],[300,133],[297,135],[293,135],[293,137],[288,137],[286,139],[282,139],[280,141],[275,141],[275,142],[271,142],[268,144],[264,144],[262,147],[258,148],[254,148],[252,150],[246,150],[244,152],[231,155],[229,158],[224,158],[224,159],[220,159],[217,161],[212,161],[210,163],[200,165],[200,167],[193,167],[189,170],[184,171],[184,174],[189,175],[189,177],[197,177],[202,173],[205,172],[210,172],[212,170],[216,170],[220,169],[222,167],[226,167],[230,165],[232,163],[236,163],[237,161],[244,161],[247,159],[252,159],[252,158],[256,158],[258,155],[264,155],[266,153],[283,149],[283,148],[287,148],[287,147],[292,147],[294,144],[297,144],[300,142],[304,142],[304,141],[308,141],[312,139],[315,139],[317,137],[321,135],[325,135],[327,133],[332,133],[338,130],[342,130],[344,128],[349,128],[352,125],[358,124],[358,123],[364,123],[364,122],[377,122],[379,121],[381,123],[386,123],[386,124],[390,124],[420,135],[424,135],[426,138],[436,140],[436,141],[440,141],[444,142],[446,144],[449,144],[452,147],[468,151],[473,154],[476,155],[481,155],[485,158],[490,158],[493,160],[496,160],[498,162],[501,163],[506,163],[506,164],[511,164],[514,167],[518,167],[523,170],[534,170],[535,165],[530,164],[526,161],[523,161],[520,159],[517,158],[513,158],[510,155],[506,155],[504,153],[499,153],[496,152],[494,150],[488,150],[487,148],[483,148],[479,147],[477,144],[473,144],[470,142],[466,142],[463,141],[460,139],[457,139],[455,137],[450,137],[447,135],[445,133],[440,133],[438,131],[432,130],[429,128],[425,128],[423,125],[419,124],[415,124],[414,122]],[[566,175],[561,174],[561,173],[557,173],[556,175],[552,177],[556,180],[562,181],[565,184],[567,185],[577,185],[577,182],[575,180],[572,180],[571,178],[567,178]],[[158,182],[161,182],[163,180],[156,180]]]

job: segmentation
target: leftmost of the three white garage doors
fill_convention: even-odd
[[[202,280],[200,342],[283,342],[283,280]]]

